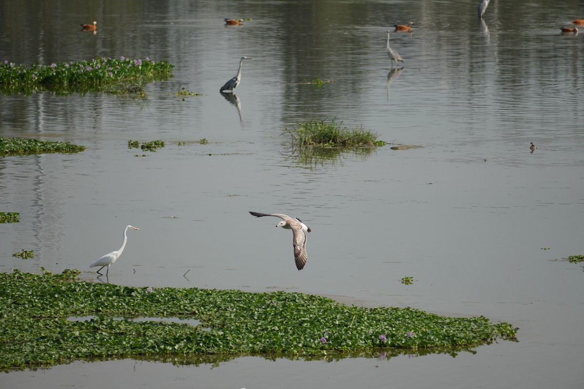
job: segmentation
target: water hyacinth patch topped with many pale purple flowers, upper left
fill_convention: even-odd
[[[0,63],[0,92],[29,94],[35,90],[50,90],[61,93],[142,93],[142,83],[168,78],[172,67],[166,61],[154,61],[148,57],[98,57],[47,66],[4,61]]]

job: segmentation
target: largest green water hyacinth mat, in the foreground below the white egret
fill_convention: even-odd
[[[314,356],[370,349],[427,349],[514,338],[485,317],[453,318],[411,308],[346,306],[303,293],[134,288],[63,274],[0,274],[0,368],[75,359],[262,353]],[[71,321],[71,316],[95,316]],[[113,317],[190,317],[201,327]]]

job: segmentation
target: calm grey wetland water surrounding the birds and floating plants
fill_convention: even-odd
[[[0,225],[1,271],[77,268],[105,281],[89,264],[119,248],[131,224],[140,231],[128,233],[112,283],[289,290],[520,328],[517,343],[456,358],[248,357],[215,369],[74,362],[2,374],[0,384],[582,387],[584,274],[554,260],[584,254],[584,34],[559,31],[584,17],[584,5],[495,0],[484,23],[477,5],[0,2],[1,61],[123,55],[175,65],[173,78],[147,87],[147,99],[0,96],[0,136],[86,146],[0,159],[0,211],[21,214]],[[253,20],[225,27],[224,17]],[[82,33],[79,24],[93,20],[97,33]],[[411,34],[391,33],[405,60],[392,71],[386,31],[409,21]],[[237,100],[226,100],[218,88],[243,55],[253,59]],[[316,78],[335,82],[310,85]],[[202,96],[183,101],[182,87]],[[325,117],[424,147],[314,164],[291,155],[283,128]],[[127,148],[130,139],[166,146],[142,152]],[[295,215],[312,228],[303,271],[291,233],[248,211]],[[35,257],[12,257],[22,249]],[[404,276],[414,283],[403,285]]]

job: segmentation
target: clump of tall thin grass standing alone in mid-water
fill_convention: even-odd
[[[335,119],[330,121],[311,119],[298,122],[285,128],[285,132],[291,135],[293,145],[325,147],[357,147],[357,146],[383,146],[384,141],[378,141],[375,132],[365,130],[362,127],[343,127],[343,122]]]

